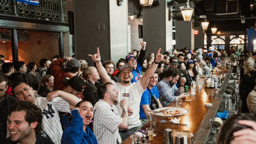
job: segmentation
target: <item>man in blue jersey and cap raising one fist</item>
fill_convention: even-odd
[[[131,80],[131,83],[134,83],[140,80],[142,64],[144,62],[144,58],[146,55],[146,42],[140,41],[140,44],[141,44],[141,50],[140,50],[140,55],[138,59],[136,56],[132,54],[129,54],[125,57],[126,64],[129,64],[132,67],[133,78]]]

